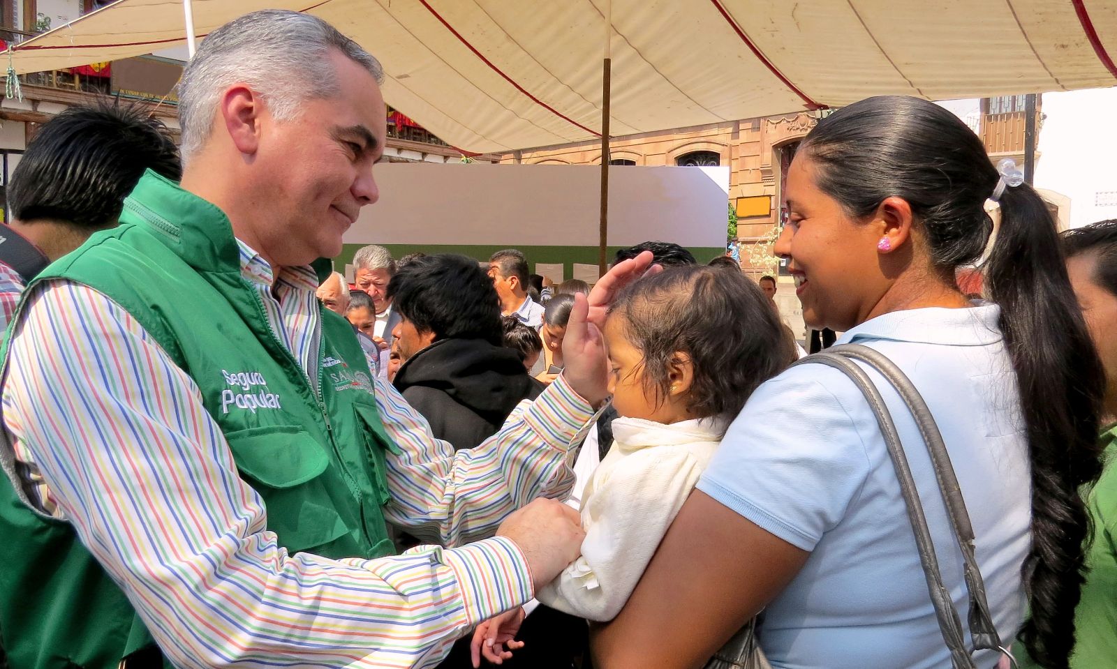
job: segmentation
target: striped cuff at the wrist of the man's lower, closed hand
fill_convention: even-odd
[[[458,580],[469,625],[532,599],[532,572],[516,542],[495,536],[442,552]]]

